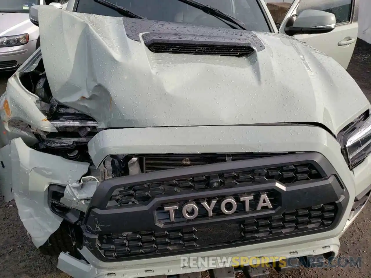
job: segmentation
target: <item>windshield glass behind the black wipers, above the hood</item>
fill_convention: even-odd
[[[216,17],[178,0],[109,1],[149,20],[232,28]],[[198,2],[241,20],[247,30],[270,32],[262,10],[256,0],[198,0]],[[122,17],[117,11],[93,0],[79,0],[76,11],[79,13]]]

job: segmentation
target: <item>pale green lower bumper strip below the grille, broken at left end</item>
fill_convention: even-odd
[[[339,240],[337,238],[313,239],[310,242],[293,243],[292,239],[283,240],[281,245],[272,245],[271,243],[262,243],[250,246],[239,246],[229,249],[218,249],[206,251],[190,256],[198,256],[206,258],[210,256],[223,257],[304,257],[324,254],[324,252],[334,252],[334,256],[339,252]],[[136,261],[121,261],[121,262],[102,262],[97,259],[91,251],[85,246],[80,251],[81,255],[89,262],[78,260],[66,253],[59,255],[58,268],[74,278],[92,278],[106,277],[105,275],[116,275],[116,277],[148,277],[158,275],[177,275],[187,274],[190,272],[202,272],[209,268],[200,265],[199,268],[181,268],[180,259],[178,256],[154,257],[149,259],[139,259]],[[186,255],[188,257],[188,255]],[[220,264],[219,268],[232,265]]]

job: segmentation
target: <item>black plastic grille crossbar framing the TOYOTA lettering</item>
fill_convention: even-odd
[[[248,218],[256,218],[257,216],[266,216],[270,214],[282,214],[284,211],[292,209],[307,208],[324,203],[339,201],[344,194],[343,190],[334,176],[328,179],[315,181],[311,183],[303,183],[301,185],[287,186],[286,191],[277,187],[279,183],[266,183],[257,185],[239,186],[238,188],[227,188],[188,194],[181,194],[177,196],[163,196],[155,198],[148,205],[133,205],[127,208],[108,208],[99,209],[94,208],[90,211],[90,216],[86,221],[86,227],[89,231],[96,234],[108,234],[111,232],[120,231],[148,231],[161,229],[174,229],[185,226],[197,226],[206,223],[214,223],[220,221],[241,221]],[[280,185],[280,184],[279,184]],[[156,209],[160,208],[162,204],[174,203],[182,200],[198,200],[203,198],[211,198],[216,196],[229,196],[233,194],[244,194],[245,192],[268,191],[275,189],[281,193],[281,205],[275,210],[267,212],[254,212],[246,214],[244,212],[239,214],[224,215],[214,218],[194,219],[188,222],[174,222],[171,224],[163,224],[156,219]],[[180,208],[179,208],[180,209]],[[120,218],[120,221],[118,221]],[[141,219],[141,221],[138,221]],[[155,220],[156,219],[156,220]],[[115,223],[112,226],[112,223]]]

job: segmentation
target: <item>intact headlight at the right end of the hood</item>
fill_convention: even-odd
[[[338,134],[349,169],[359,165],[371,153],[371,117],[366,111]]]

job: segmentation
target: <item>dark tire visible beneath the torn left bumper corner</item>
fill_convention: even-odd
[[[49,256],[59,256],[61,252],[76,254],[68,224],[62,221],[58,230],[49,237],[45,244],[39,247],[39,250],[42,254]]]

